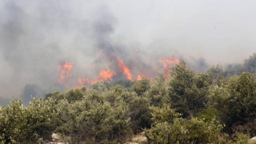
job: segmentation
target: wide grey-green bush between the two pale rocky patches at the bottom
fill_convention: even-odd
[[[125,104],[113,107],[109,102],[82,100],[69,104],[62,100],[58,105],[62,122],[56,131],[70,136],[71,143],[122,142],[131,134]]]

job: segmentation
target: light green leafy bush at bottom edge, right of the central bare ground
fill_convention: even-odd
[[[153,109],[154,123],[151,129],[145,129],[149,143],[225,143],[220,133],[222,125],[216,119],[208,122],[197,118],[183,119],[168,105]]]

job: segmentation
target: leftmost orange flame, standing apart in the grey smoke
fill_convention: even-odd
[[[65,80],[67,80],[69,77],[72,77],[72,69],[74,66],[74,63],[70,62],[61,62],[58,64],[60,69],[60,79],[57,80],[58,83],[63,83]]]

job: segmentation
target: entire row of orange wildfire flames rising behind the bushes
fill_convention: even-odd
[[[129,69],[129,67],[127,65],[125,65],[124,61],[119,59],[116,56],[113,55],[108,55],[111,62],[114,62],[114,64],[116,64],[118,67],[119,72],[121,72],[123,74],[123,76],[126,77],[126,79],[128,80],[142,80],[143,78],[147,78],[151,81],[154,81],[154,76],[156,76],[157,73],[157,69],[159,68],[151,68],[151,69],[145,69],[145,70],[141,70],[138,73],[134,73],[137,75],[137,78],[132,77],[131,74],[131,70]],[[100,58],[103,58],[103,55],[99,54]],[[171,71],[171,67],[175,64],[178,64],[180,61],[177,57],[172,57],[172,58],[166,58],[166,59],[161,59],[161,61],[163,61],[164,64],[164,75],[166,77],[166,80],[170,77],[170,71]],[[106,65],[106,64],[105,64]],[[58,83],[65,85],[66,87],[70,88],[69,85],[67,85],[67,80],[72,77],[72,69],[74,66],[74,63],[71,62],[61,62],[58,64],[59,69],[60,69],[60,76],[59,79],[57,80]],[[93,63],[92,64],[93,68],[96,67],[96,64]],[[111,65],[113,66],[113,65]],[[109,80],[109,81],[113,81],[113,77],[117,75],[117,72],[113,69],[108,68],[108,66],[106,65],[106,69],[103,70],[99,70],[99,75],[95,78],[95,79],[89,79],[89,78],[78,78],[78,83],[79,85],[75,86],[90,86],[91,84],[94,84],[96,82],[101,82],[104,80]],[[114,68],[116,68],[115,66],[113,66]]]

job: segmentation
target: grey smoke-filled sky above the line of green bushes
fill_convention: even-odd
[[[0,101],[101,79],[154,77],[176,57],[195,71],[242,63],[256,52],[255,6],[249,0],[2,0]]]

